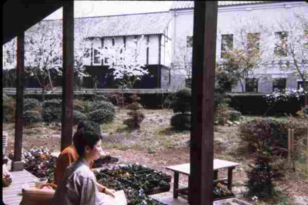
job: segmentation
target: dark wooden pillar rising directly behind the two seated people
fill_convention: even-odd
[[[74,92],[74,2],[63,6],[63,83],[61,151],[72,143]]]

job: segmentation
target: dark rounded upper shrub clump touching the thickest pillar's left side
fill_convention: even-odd
[[[185,88],[176,93],[174,102],[172,103],[174,113],[185,113],[191,110],[191,90]]]

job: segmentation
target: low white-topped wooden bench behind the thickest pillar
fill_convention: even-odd
[[[228,190],[232,192],[232,179],[233,179],[233,170],[239,166],[239,163],[226,161],[221,159],[214,159],[214,181],[213,183],[221,182],[226,185]],[[188,187],[179,189],[179,174],[188,175],[190,174],[190,163],[184,163],[182,165],[175,165],[170,167],[165,167],[167,170],[173,171],[174,174],[174,198],[178,198],[179,193],[188,195]],[[220,169],[228,169],[228,177],[218,179],[218,171]],[[189,197],[188,197],[189,198]]]

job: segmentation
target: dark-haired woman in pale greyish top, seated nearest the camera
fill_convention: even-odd
[[[114,197],[114,190],[100,185],[90,170],[90,162],[99,158],[100,143],[101,134],[94,129],[84,127],[74,134],[73,144],[80,157],[66,168],[51,204],[107,204],[107,197],[100,192]]]

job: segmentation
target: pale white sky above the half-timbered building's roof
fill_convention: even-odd
[[[169,11],[172,1],[74,1],[74,17]],[[45,19],[61,19],[62,8]]]

